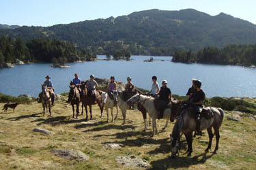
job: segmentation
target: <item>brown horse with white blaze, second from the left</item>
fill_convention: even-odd
[[[79,89],[75,85],[70,85],[70,93],[68,95],[68,101],[70,101],[73,110],[73,118],[74,118],[74,105],[76,105],[76,118],[79,117],[79,103],[80,103],[80,94]]]

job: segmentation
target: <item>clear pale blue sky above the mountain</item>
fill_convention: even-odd
[[[221,12],[256,24],[255,0],[0,0],[0,24],[51,26],[122,16],[141,10],[193,8]]]

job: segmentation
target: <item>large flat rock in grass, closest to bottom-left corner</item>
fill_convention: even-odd
[[[55,156],[59,156],[60,158],[64,159],[75,159],[75,160],[81,160],[81,161],[87,161],[89,160],[89,156],[85,155],[80,150],[74,150],[74,149],[52,149],[50,151],[52,154],[55,154]]]

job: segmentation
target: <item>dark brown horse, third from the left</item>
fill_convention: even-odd
[[[102,91],[100,90],[96,90],[96,93],[98,93],[96,95],[96,103],[94,102],[94,99],[91,97],[91,95],[89,95],[89,90],[87,90],[87,88],[83,88],[85,89],[85,95],[83,95],[83,97],[81,98],[81,101],[82,101],[82,115],[83,115],[83,107],[85,107],[85,112],[86,112],[86,118],[85,120],[87,121],[88,120],[88,111],[87,111],[87,105],[89,106],[89,112],[91,114],[91,105],[95,105],[95,104],[98,104],[98,106],[100,107],[100,118],[102,118],[102,113],[103,113],[103,106],[100,105],[100,101],[101,101],[101,94],[102,94]],[[92,119],[92,116],[90,118],[90,120]]]

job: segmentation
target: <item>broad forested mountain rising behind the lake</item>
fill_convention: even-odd
[[[155,54],[156,48],[199,50],[205,46],[223,48],[227,44],[256,44],[256,25],[224,13],[210,16],[193,9],[145,10],[128,16],[52,27],[0,29],[1,35],[25,40],[36,37],[62,39],[98,52],[128,48],[132,54]]]

